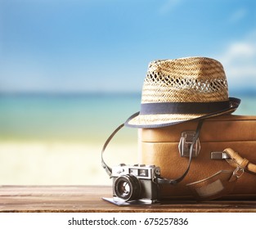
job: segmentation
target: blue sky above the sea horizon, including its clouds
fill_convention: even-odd
[[[0,0],[0,92],[140,92],[150,61],[207,56],[256,93],[254,0]]]

